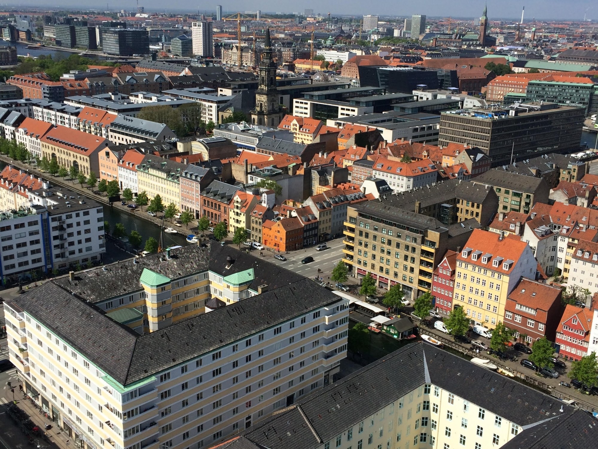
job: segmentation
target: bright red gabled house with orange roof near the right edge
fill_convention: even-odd
[[[591,308],[581,308],[571,304],[565,307],[554,340],[560,345],[560,357],[580,360],[587,355],[593,315]]]

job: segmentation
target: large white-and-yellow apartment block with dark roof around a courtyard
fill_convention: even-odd
[[[123,280],[129,270],[143,270],[143,291],[119,293],[123,302],[109,301],[110,307],[143,301],[161,313],[165,301],[170,309],[173,273],[196,263],[185,257],[187,248],[170,251],[167,259],[156,254],[94,270],[99,277],[57,278],[5,302],[10,359],[25,391],[75,445],[208,447],[321,389],[338,372],[346,357],[348,301],[286,270],[298,280],[271,290],[260,286],[255,296],[151,333],[120,324],[142,307],[120,309],[129,315],[103,314],[87,302],[103,295],[87,288],[93,278]],[[215,262],[216,271],[243,263],[240,251],[216,250],[236,259]],[[148,274],[147,266],[155,271]],[[238,288],[227,284],[232,280],[223,276],[223,288]],[[236,280],[246,281],[242,273]]]

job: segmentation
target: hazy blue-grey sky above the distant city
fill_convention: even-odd
[[[385,14],[392,16],[410,16],[411,14],[426,14],[427,16],[479,17],[484,9],[484,0],[418,0],[388,1],[388,0],[303,0],[300,2],[289,0],[178,0],[164,2],[164,0],[139,0],[139,5],[148,10],[163,10],[164,7],[172,12],[213,11],[216,4],[221,4],[224,11],[255,11],[260,8],[263,13],[303,13],[305,8],[313,9],[315,13],[327,14]],[[98,8],[105,2],[102,0],[0,0],[2,5],[47,5],[74,8]],[[110,10],[135,9],[136,0],[108,0]],[[525,6],[525,18],[581,20],[584,13],[587,19],[598,20],[598,2],[595,0],[501,0],[490,1],[488,17],[492,19],[515,19],[521,17],[521,10]]]

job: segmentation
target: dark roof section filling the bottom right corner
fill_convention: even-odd
[[[598,421],[576,409],[519,433],[501,449],[591,448],[597,441]]]

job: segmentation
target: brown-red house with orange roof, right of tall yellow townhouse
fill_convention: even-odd
[[[543,336],[554,341],[563,315],[562,295],[558,287],[521,278],[507,296],[503,323],[529,344]]]

